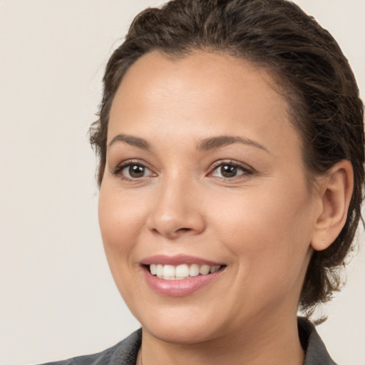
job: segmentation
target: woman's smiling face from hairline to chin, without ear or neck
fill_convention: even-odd
[[[191,343],[295,318],[320,208],[305,174],[267,73],[215,53],[136,61],[110,110],[99,219],[143,329]]]

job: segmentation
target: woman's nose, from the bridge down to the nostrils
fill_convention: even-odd
[[[155,206],[148,217],[148,229],[170,240],[203,232],[205,217],[198,190],[186,179],[166,179],[155,195]]]

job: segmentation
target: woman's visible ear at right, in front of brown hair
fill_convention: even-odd
[[[354,189],[354,172],[348,160],[336,163],[319,180],[321,211],[315,223],[311,245],[322,251],[331,245],[346,223]]]

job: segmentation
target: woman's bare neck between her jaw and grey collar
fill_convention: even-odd
[[[157,339],[143,329],[143,341],[137,364],[200,365],[302,365],[304,351],[299,341],[297,319],[247,324],[230,336],[217,337],[198,344],[172,344]]]

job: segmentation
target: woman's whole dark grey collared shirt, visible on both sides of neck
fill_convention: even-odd
[[[336,365],[314,325],[308,319],[298,318],[299,338],[306,352],[303,365]],[[43,365],[135,365],[142,341],[142,330],[130,334],[113,347],[98,354],[78,356],[73,359]]]

